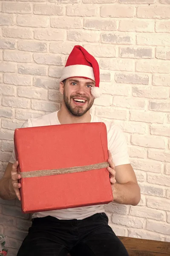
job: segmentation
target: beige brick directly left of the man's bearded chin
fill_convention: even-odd
[[[60,109],[60,104],[53,103],[53,102],[47,102],[42,100],[32,100],[32,110],[41,110],[41,111],[49,111],[54,112]]]

